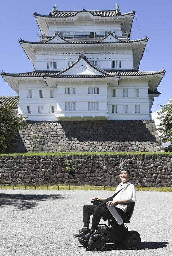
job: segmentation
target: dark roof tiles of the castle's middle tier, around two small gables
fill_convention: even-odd
[[[53,36],[52,38],[54,38],[55,36]],[[49,39],[49,40],[47,40],[47,41],[45,41],[45,42],[30,42],[30,41],[25,41],[25,40],[23,40],[23,39],[19,39],[19,42],[20,43],[30,43],[30,44],[98,44],[98,43],[101,43],[101,44],[107,44],[107,43],[116,43],[116,44],[118,44],[118,43],[135,43],[135,42],[141,42],[141,41],[145,41],[145,40],[148,40],[148,37],[146,36],[145,38],[142,38],[142,39],[136,39],[136,40],[126,40],[126,41],[122,41],[122,40],[120,40],[120,39],[118,39],[118,40],[120,40],[120,41],[117,41],[117,42],[102,42],[102,40],[103,39],[105,39],[107,36],[105,36],[104,38],[102,38],[101,40],[98,40],[98,41],[72,41],[72,42],[69,42],[69,41],[67,41],[67,40],[65,40],[65,39],[63,39],[62,37],[62,39],[63,40],[65,40],[66,42],[62,42],[62,43],[48,43],[50,40],[52,40],[52,38],[51,39]],[[115,38],[115,36],[114,36],[114,38]]]

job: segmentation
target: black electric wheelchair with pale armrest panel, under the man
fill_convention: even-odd
[[[94,201],[91,202],[94,203]],[[118,213],[115,207],[108,205],[107,209],[111,215],[108,219],[103,218],[103,220],[108,220],[108,226],[99,224],[95,233],[91,234],[88,242],[78,238],[79,243],[89,247],[92,251],[102,251],[106,243],[115,243],[116,245],[124,243],[128,249],[137,249],[141,243],[140,234],[134,230],[129,231],[126,226],[132,217],[135,202],[119,204],[127,205],[126,213]],[[80,229],[79,233],[82,231],[83,229]]]

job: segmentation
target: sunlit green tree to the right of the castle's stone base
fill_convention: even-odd
[[[162,142],[170,142],[168,148],[172,148],[172,100],[168,100],[166,105],[160,105],[161,110],[156,112],[161,120],[158,131],[161,133]]]

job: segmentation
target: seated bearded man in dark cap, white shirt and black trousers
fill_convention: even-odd
[[[117,186],[115,191],[114,198],[112,197],[112,201],[106,202],[105,206],[99,205],[84,205],[83,206],[83,231],[79,234],[73,234],[74,237],[79,238],[83,241],[88,241],[89,237],[92,233],[94,233],[95,229],[99,225],[101,217],[109,217],[110,212],[107,209],[107,205],[114,206],[118,213],[126,213],[127,205],[120,205],[117,206],[116,203],[129,203],[130,201],[135,202],[135,187],[129,181],[130,172],[127,168],[122,168],[120,171],[120,179],[121,183]],[[104,201],[106,198],[98,198],[93,197],[99,202]],[[92,226],[89,229],[90,223],[90,215],[93,214],[92,218]]]

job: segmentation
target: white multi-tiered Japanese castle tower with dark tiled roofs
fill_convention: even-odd
[[[147,36],[130,40],[134,11],[34,13],[38,42],[20,39],[35,70],[1,76],[28,120],[150,120],[165,74],[140,71]]]

